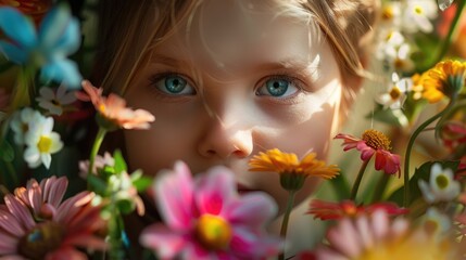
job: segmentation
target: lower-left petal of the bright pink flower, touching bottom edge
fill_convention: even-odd
[[[161,259],[174,259],[186,247],[187,239],[165,225],[152,224],[142,231],[139,242],[155,250]]]

